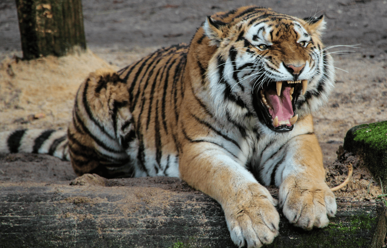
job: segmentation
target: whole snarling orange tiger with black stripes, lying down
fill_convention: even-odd
[[[325,26],[257,6],[207,16],[190,44],[89,74],[67,132],[3,132],[0,151],[67,159],[79,176],[180,177],[219,202],[239,247],[274,240],[277,204],[325,227],[337,206],[312,119],[334,88]]]

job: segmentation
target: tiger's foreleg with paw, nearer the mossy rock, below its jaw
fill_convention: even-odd
[[[280,176],[280,206],[286,218],[295,226],[307,230],[325,227],[329,224],[327,216],[336,213],[336,200],[325,183],[319,143],[314,134],[296,136],[291,142],[295,155],[291,159],[293,162],[284,167]]]

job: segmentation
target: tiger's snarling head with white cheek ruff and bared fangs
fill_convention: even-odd
[[[262,7],[207,17],[190,52],[205,71],[202,87],[214,112],[234,122],[258,117],[266,130],[292,130],[334,86],[333,61],[320,40],[324,28],[324,16],[298,19]]]

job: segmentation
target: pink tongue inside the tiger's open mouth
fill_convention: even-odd
[[[286,121],[293,117],[293,107],[290,100],[290,87],[284,87],[281,96],[277,95],[277,91],[270,90],[266,92],[266,97],[273,109],[269,109],[272,120],[278,116],[278,121]],[[286,124],[291,126],[290,123]]]

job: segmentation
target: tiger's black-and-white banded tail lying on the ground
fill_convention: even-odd
[[[67,131],[22,129],[0,133],[0,153],[28,152],[50,154],[70,160]]]

